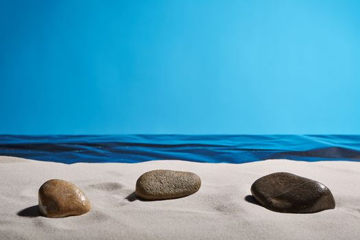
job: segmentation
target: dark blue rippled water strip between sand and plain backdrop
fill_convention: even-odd
[[[0,135],[0,156],[59,163],[250,163],[271,158],[360,162],[360,135]]]

